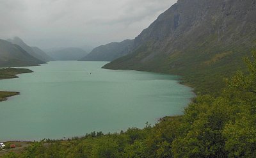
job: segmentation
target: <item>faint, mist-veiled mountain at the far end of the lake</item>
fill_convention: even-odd
[[[83,49],[76,47],[47,49],[45,51],[49,56],[56,60],[78,60],[88,54]]]

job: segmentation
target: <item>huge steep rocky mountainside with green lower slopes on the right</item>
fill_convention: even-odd
[[[196,91],[220,90],[255,46],[255,8],[255,0],[179,0],[135,38],[131,54],[103,68],[178,74]]]

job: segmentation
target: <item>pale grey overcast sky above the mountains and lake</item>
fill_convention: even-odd
[[[0,38],[92,47],[138,36],[177,0],[0,0]]]

